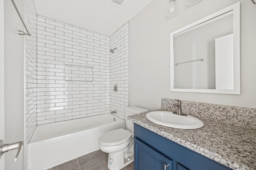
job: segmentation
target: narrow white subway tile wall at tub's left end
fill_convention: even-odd
[[[26,0],[26,26],[31,36],[26,36],[26,165],[28,165],[28,142],[36,128],[36,8],[33,0]],[[28,166],[27,166],[28,167]]]

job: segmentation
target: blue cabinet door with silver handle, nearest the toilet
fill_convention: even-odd
[[[134,170],[172,170],[172,161],[134,138]]]

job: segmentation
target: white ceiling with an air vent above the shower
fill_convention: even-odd
[[[34,0],[38,15],[110,36],[152,0]]]

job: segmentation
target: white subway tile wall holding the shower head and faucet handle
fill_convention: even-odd
[[[128,107],[129,75],[129,22],[126,22],[110,36],[110,109],[117,111],[117,116],[125,119],[124,108]],[[118,91],[114,92],[114,85]]]

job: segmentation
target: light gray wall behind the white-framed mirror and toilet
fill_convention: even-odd
[[[129,22],[129,104],[159,109],[161,97],[256,108],[256,8],[241,0],[241,95],[170,92],[170,33],[238,0],[176,1],[180,12],[166,18],[168,1],[153,0]]]

